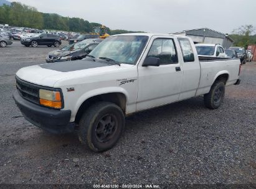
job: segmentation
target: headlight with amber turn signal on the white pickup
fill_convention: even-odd
[[[60,91],[39,90],[40,104],[51,108],[62,108]]]

